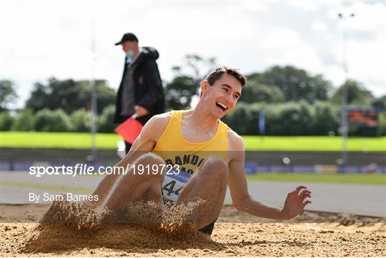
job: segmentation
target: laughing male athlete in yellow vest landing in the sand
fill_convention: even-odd
[[[134,166],[125,175],[108,175],[94,192],[100,207],[124,211],[139,201],[187,204],[202,199],[204,204],[194,215],[199,218],[199,231],[210,235],[228,185],[234,207],[240,211],[269,219],[300,214],[310,203],[305,200],[311,197],[306,187],[290,192],[282,209],[260,204],[248,194],[243,139],[220,120],[234,109],[245,84],[238,69],[219,67],[201,81],[202,94],[194,109],[152,117],[129,154],[116,165]],[[172,175],[164,169],[168,164],[175,168]],[[139,165],[150,172],[145,169],[139,174]]]

